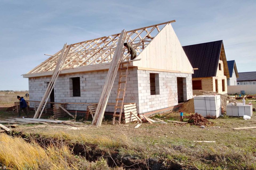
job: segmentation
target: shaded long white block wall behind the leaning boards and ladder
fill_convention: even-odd
[[[54,100],[55,102],[79,102],[79,103],[98,103],[102,93],[102,88],[105,83],[108,70],[92,71],[84,73],[74,73],[59,75],[54,85]],[[73,97],[72,79],[80,77],[80,97]],[[51,79],[48,77],[29,78],[29,97],[30,100],[41,101],[46,88],[47,82]],[[117,97],[119,72],[115,78],[113,88],[109,95],[108,103],[115,103]],[[137,67],[129,68],[126,84],[126,92],[124,103],[139,103],[138,101],[138,78]],[[49,100],[50,101],[50,100]],[[34,107],[33,102],[30,102],[30,107]],[[69,104],[67,109],[86,111],[87,105]],[[114,106],[107,105],[106,112],[113,112]]]

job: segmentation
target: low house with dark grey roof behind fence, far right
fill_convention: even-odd
[[[256,84],[256,71],[238,73],[237,85]]]

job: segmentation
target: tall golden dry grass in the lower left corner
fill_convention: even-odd
[[[73,155],[65,143],[53,142],[41,147],[35,141],[30,142],[0,134],[0,166],[10,170],[110,169],[104,159],[89,163],[82,157]]]

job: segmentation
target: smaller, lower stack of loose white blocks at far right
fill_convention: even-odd
[[[234,103],[227,103],[226,114],[228,116],[253,116],[253,106],[252,105],[243,105],[242,103],[237,103],[235,106]]]

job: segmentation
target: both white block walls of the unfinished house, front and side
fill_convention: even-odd
[[[98,103],[107,71],[108,70],[59,75],[54,86],[55,102]],[[156,84],[158,84],[156,89],[159,91],[159,94],[150,95],[150,73],[159,74],[157,78],[159,82],[156,82]],[[74,77],[80,77],[80,97],[73,97],[71,78]],[[137,103],[137,112],[140,114],[175,106],[178,104],[177,77],[183,78],[184,100],[191,99],[193,97],[192,74],[137,70],[137,67],[129,68],[124,103]],[[49,82],[50,79],[50,76],[29,78],[30,100],[41,101],[47,88],[47,82]],[[115,103],[118,80],[119,72],[115,78],[108,103]],[[35,103],[30,102],[30,107],[34,107],[34,104]],[[86,111],[86,108],[86,104],[69,104],[67,106],[69,110]],[[106,112],[113,111],[114,106],[107,105]]]

